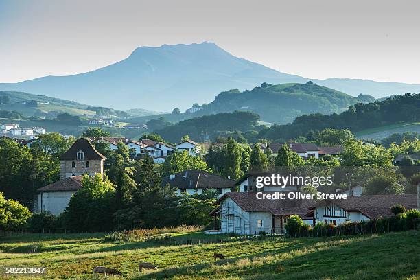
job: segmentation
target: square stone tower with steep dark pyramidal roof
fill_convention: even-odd
[[[60,180],[71,176],[89,174],[94,176],[97,173],[105,178],[105,159],[91,142],[85,138],[79,138],[60,157]]]

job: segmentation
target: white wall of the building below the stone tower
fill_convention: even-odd
[[[74,193],[74,191],[51,191],[38,194],[38,211],[49,211],[53,215],[60,215]]]

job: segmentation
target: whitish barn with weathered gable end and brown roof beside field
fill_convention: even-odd
[[[299,215],[306,224],[314,224],[314,218],[308,215],[314,200],[259,200],[253,192],[229,192],[216,204],[219,207],[212,214],[218,215],[222,233],[284,233],[290,215]]]

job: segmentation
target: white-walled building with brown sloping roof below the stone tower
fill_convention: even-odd
[[[41,187],[34,209],[60,215],[69,204],[71,196],[82,187],[82,178],[82,175],[73,176]]]

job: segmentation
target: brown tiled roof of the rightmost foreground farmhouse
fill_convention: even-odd
[[[417,194],[377,194],[363,196],[348,196],[347,199],[323,200],[314,207],[325,205],[329,202],[340,206],[345,211],[358,211],[366,217],[377,219],[386,218],[393,215],[391,207],[394,205],[403,205],[406,209],[417,207]]]

